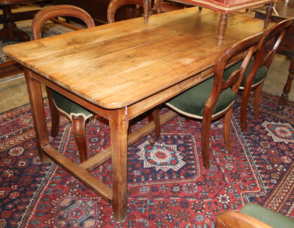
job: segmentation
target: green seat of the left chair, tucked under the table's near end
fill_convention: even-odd
[[[51,90],[51,94],[58,110],[69,116],[69,118],[71,118],[71,115],[83,115],[86,120],[93,115],[89,110],[83,108],[81,105],[73,102],[60,93]]]

